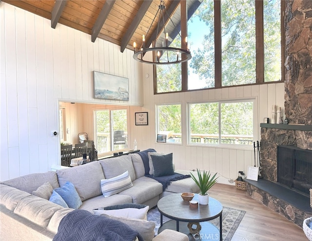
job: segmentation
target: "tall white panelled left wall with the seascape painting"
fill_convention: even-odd
[[[59,164],[59,100],[143,105],[133,51],[0,1],[0,180]],[[93,98],[92,71],[129,79],[129,101]]]

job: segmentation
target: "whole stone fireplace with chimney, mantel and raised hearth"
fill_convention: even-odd
[[[302,227],[302,221],[312,216],[310,197],[277,183],[277,155],[278,146],[288,146],[308,150],[311,156],[312,4],[311,0],[287,0],[285,4],[284,113],[290,124],[260,125],[263,179],[248,181],[246,188],[255,200]],[[311,184],[311,176],[308,179]]]

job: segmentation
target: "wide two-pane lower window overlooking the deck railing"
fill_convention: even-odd
[[[189,103],[190,144],[251,145],[254,100]]]

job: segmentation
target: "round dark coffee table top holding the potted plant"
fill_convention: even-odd
[[[193,200],[198,201],[198,194]],[[159,212],[176,221],[209,221],[222,214],[222,204],[209,197],[208,205],[198,204],[198,208],[190,207],[188,201],[183,201],[180,193],[171,194],[161,198],[157,207]]]

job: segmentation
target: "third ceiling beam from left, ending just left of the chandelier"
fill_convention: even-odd
[[[131,22],[127,32],[123,36],[121,43],[120,43],[120,52],[123,53],[125,48],[127,47],[129,41],[131,40],[131,37],[135,33],[137,26],[141,22],[142,18],[144,17],[145,13],[147,12],[148,8],[152,4],[153,0],[145,0],[143,1],[142,5],[140,6],[140,9],[137,11],[136,17]]]

